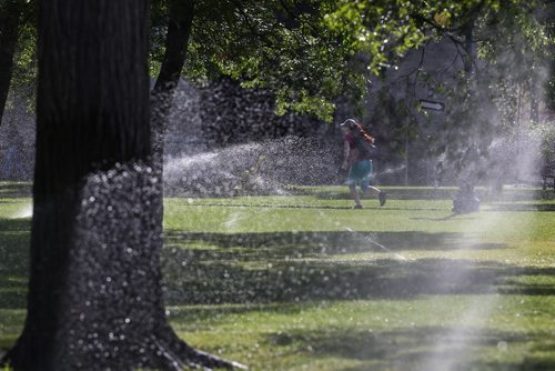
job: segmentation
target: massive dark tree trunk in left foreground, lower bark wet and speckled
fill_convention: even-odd
[[[42,0],[31,275],[16,370],[233,364],[164,317],[148,0]]]

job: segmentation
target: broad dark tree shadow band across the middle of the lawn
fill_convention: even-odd
[[[410,239],[411,242],[403,242],[405,245],[396,247],[401,250],[456,249],[456,239],[451,233],[376,233],[375,239],[382,242]],[[555,294],[555,288],[524,284],[515,279],[555,274],[555,268],[453,259],[395,260],[393,253],[377,250],[364,241],[364,235],[356,235],[363,233],[352,234],[168,233],[168,249],[163,252],[167,302],[178,305],[413,299],[426,294],[493,292]],[[383,259],[349,257],[360,252],[379,252]]]

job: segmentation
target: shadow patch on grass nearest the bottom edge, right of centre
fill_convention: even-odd
[[[555,359],[528,359],[505,362],[503,352],[516,343],[542,342],[545,335],[502,331],[461,331],[445,328],[403,328],[395,331],[361,331],[330,329],[329,331],[289,331],[273,333],[266,339],[270,347],[293,345],[297,352],[316,357],[335,357],[372,361],[372,370],[554,370]],[[501,347],[500,347],[501,344]],[[496,361],[482,361],[477,349],[498,352]],[[344,370],[366,370],[370,364]]]

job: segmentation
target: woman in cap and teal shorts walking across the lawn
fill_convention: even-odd
[[[346,184],[351,191],[351,195],[354,200],[353,209],[362,209],[361,195],[356,190],[356,184],[360,184],[363,195],[370,194],[370,192],[377,193],[377,200],[380,205],[385,204],[386,194],[384,191],[370,186],[370,180],[372,179],[372,151],[367,148],[374,142],[374,138],[371,137],[364,128],[359,124],[353,119],[347,119],[341,123],[343,129],[343,148],[344,148],[344,161],[342,169],[349,169],[349,176]]]

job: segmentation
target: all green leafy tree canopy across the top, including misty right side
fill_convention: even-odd
[[[341,98],[354,107],[352,114],[362,117],[371,79],[385,77],[408,52],[442,39],[456,47],[464,62],[457,86],[448,89],[415,71],[455,102],[446,112],[444,136],[431,146],[436,153],[447,150],[454,160],[470,144],[484,151],[492,132],[515,131],[518,100],[531,112],[537,112],[541,101],[554,106],[555,84],[546,84],[544,97],[542,83],[553,59],[553,16],[545,12],[546,0],[152,0],[152,78],[160,77],[169,24],[183,16],[184,6],[192,10],[192,24],[186,38],[181,37],[186,51],[182,76],[201,82],[226,76],[245,88],[265,89],[273,93],[278,113],[307,113],[331,122]],[[36,63],[34,1],[20,7],[16,90],[32,87]],[[417,109],[414,100],[404,106],[407,114]],[[491,109],[500,120],[493,122],[484,111]],[[391,131],[404,132],[404,123],[389,121]],[[446,142],[460,146],[446,149]]]

